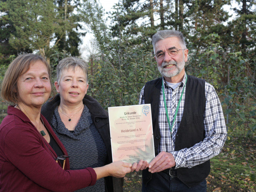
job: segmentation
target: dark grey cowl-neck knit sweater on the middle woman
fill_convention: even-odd
[[[66,129],[60,119],[58,107],[54,110],[50,124],[70,156],[70,169],[102,167],[106,164],[107,149],[86,105],[73,133]],[[77,191],[105,191],[104,178],[97,180],[93,186]]]

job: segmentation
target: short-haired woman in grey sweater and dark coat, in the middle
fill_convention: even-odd
[[[42,107],[41,113],[64,144],[70,156],[70,169],[101,167],[112,162],[107,112],[88,89],[88,65],[83,59],[68,57],[57,65],[57,94]],[[142,162],[140,162],[142,164]],[[133,165],[145,168],[143,165]],[[122,191],[123,179],[106,177],[94,186],[78,191]]]

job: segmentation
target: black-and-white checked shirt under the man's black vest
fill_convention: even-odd
[[[164,81],[164,78],[163,78]],[[186,81],[186,75],[183,78],[181,84],[172,90],[167,84],[164,84],[166,105],[170,124],[172,125],[176,106],[178,105],[183,85]],[[164,82],[165,83],[165,82]],[[144,86],[145,87],[145,86]],[[141,89],[139,104],[145,104],[144,99],[144,87]],[[205,82],[205,112],[204,112],[204,129],[205,138],[203,141],[197,143],[193,147],[184,148],[180,151],[174,151],[175,135],[180,125],[181,117],[183,114],[185,104],[185,93],[184,89],[183,96],[181,98],[180,107],[174,126],[172,129],[172,136],[170,134],[170,128],[166,117],[164,98],[162,94],[162,88],[160,92],[160,103],[159,103],[159,129],[161,133],[160,145],[157,149],[157,153],[161,151],[170,152],[173,154],[176,166],[175,168],[188,167],[191,168],[195,165],[201,164],[213,156],[220,153],[225,140],[226,140],[226,124],[223,116],[222,106],[219,102],[217,93],[212,85]]]

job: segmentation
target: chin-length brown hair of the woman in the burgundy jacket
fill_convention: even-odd
[[[50,76],[50,66],[43,57],[35,54],[19,55],[12,61],[7,71],[5,72],[5,76],[1,84],[2,98],[4,98],[6,101],[18,103],[18,78],[20,75],[28,71],[31,63],[34,63],[38,60],[46,65],[48,74]]]

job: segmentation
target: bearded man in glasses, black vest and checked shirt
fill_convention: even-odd
[[[186,74],[188,49],[180,31],[158,31],[152,44],[162,77],[140,94],[139,104],[151,104],[156,153],[142,172],[142,192],[206,192],[210,159],[227,135],[222,106],[212,85]]]

